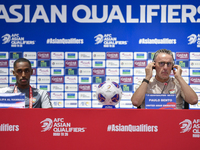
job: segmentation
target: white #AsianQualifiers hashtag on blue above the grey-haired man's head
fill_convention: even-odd
[[[176,39],[169,39],[169,38],[163,38],[163,39],[139,39],[139,44],[176,44]]]

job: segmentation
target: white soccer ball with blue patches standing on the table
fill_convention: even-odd
[[[116,82],[105,81],[99,84],[96,98],[103,105],[117,105],[122,98],[122,89]]]

